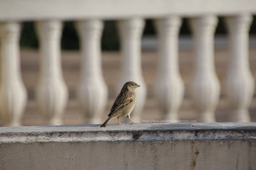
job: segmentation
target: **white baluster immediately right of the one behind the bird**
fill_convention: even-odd
[[[156,21],[158,31],[158,76],[156,92],[163,119],[177,120],[177,111],[182,102],[184,85],[178,67],[179,17],[167,17]]]

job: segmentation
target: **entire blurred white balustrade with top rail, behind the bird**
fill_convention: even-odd
[[[229,34],[230,66],[226,94],[233,114],[230,121],[250,121],[248,107],[254,80],[248,63],[248,38],[254,0],[41,0],[0,1],[0,120],[4,126],[20,125],[26,104],[26,89],[20,77],[19,35],[22,21],[34,20],[39,37],[40,72],[37,103],[49,125],[62,124],[68,95],[61,69],[61,22],[75,20],[82,54],[78,96],[86,123],[99,123],[108,96],[101,68],[102,21],[118,20],[121,42],[119,87],[136,81],[136,121],[139,121],[147,87],[141,71],[141,36],[144,18],[155,19],[158,32],[159,67],[156,95],[163,119],[178,119],[184,85],[178,68],[178,33],[182,17],[189,17],[193,30],[195,69],[191,94],[200,121],[214,122],[220,83],[214,64],[214,33],[217,17],[225,16]],[[118,89],[119,90],[119,89]]]

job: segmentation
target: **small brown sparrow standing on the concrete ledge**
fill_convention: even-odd
[[[108,114],[108,119],[100,127],[105,127],[110,120],[115,118],[118,118],[118,124],[120,124],[119,117],[125,116],[132,121],[132,124],[135,124],[135,122],[130,118],[130,114],[136,104],[135,88],[139,86],[140,85],[135,82],[126,82],[123,85],[121,92]]]

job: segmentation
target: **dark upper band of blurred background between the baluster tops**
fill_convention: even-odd
[[[103,34],[101,38],[101,50],[102,51],[118,51],[119,50],[119,37],[118,37],[118,29],[116,26],[116,21],[107,20],[104,21]],[[256,16],[253,17],[253,23],[250,28],[250,37],[254,39],[254,35],[256,35]],[[218,17],[218,24],[215,32],[216,36],[226,37],[227,31],[224,24],[224,18]],[[180,37],[191,37],[191,30],[188,23],[188,18],[182,19],[182,25],[180,28]],[[144,51],[155,51],[156,46],[146,46],[145,42],[147,38],[155,38],[156,41],[156,30],[154,21],[152,19],[145,20],[145,28],[143,31],[143,38],[145,45],[142,50]],[[22,31],[20,37],[20,46],[21,48],[26,49],[37,49],[39,45],[39,41],[34,29],[34,22],[23,22],[22,23]],[[221,44],[223,45],[223,44]],[[152,48],[152,49],[151,49]],[[182,47],[181,47],[182,48]],[[62,50],[79,50],[79,38],[77,31],[74,26],[73,21],[65,21],[63,22],[63,32],[61,37],[61,49]]]

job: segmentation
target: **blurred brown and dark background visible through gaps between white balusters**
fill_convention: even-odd
[[[143,78],[147,85],[147,98],[142,111],[144,120],[161,120],[162,113],[158,109],[157,99],[154,92],[156,80],[158,53],[157,36],[154,22],[146,19],[145,29],[142,36],[142,71]],[[118,37],[116,21],[104,21],[103,34],[101,38],[102,49],[102,69],[104,80],[107,84],[109,93],[107,105],[101,115],[102,122],[107,118],[111,106],[117,97],[118,82],[120,81],[121,56],[119,52],[120,42]],[[222,91],[222,81],[228,66],[228,41],[227,31],[223,23],[223,18],[218,17],[218,24],[215,33],[215,66],[217,77],[221,85],[220,99],[216,109],[217,122],[228,121],[230,114],[227,98]],[[35,102],[35,87],[39,75],[39,41],[35,33],[33,22],[23,22],[20,37],[21,46],[21,76],[28,92],[28,102],[21,120],[22,125],[45,125],[46,120],[40,115]],[[79,38],[74,27],[74,22],[63,22],[63,32],[61,37],[61,60],[63,76],[68,86],[69,99],[63,116],[64,124],[83,124],[85,117],[79,107],[77,98],[77,86],[79,83],[80,59]],[[193,43],[191,29],[188,19],[182,19],[179,34],[179,69],[181,78],[185,84],[185,94],[182,105],[178,111],[180,120],[198,120],[199,115],[193,106],[193,102],[188,92],[191,76],[194,70]],[[250,68],[256,80],[256,16],[250,29]],[[250,105],[250,116],[252,121],[256,121],[256,95]],[[131,117],[133,117],[131,115]],[[112,120],[111,123],[117,123]]]

